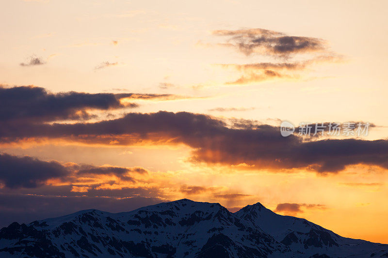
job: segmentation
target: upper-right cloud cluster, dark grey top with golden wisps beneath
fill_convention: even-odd
[[[225,43],[218,45],[232,47],[247,56],[258,54],[275,60],[279,58],[291,60],[218,64],[218,66],[240,73],[239,78],[225,84],[244,85],[274,79],[296,80],[302,77],[303,71],[313,65],[324,62],[337,63],[344,60],[343,56],[329,50],[326,41],[319,38],[289,36],[282,32],[265,29],[214,30],[212,34],[228,38]]]

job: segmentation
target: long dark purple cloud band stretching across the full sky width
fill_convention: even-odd
[[[193,162],[233,166],[245,163],[256,169],[338,172],[356,164],[388,168],[388,140],[306,141],[297,134],[282,137],[275,126],[230,128],[225,121],[188,112],[129,113],[95,123],[26,124],[15,128],[0,124],[2,142],[31,137],[124,146],[183,143],[193,148]]]

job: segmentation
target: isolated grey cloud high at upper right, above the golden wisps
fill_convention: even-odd
[[[288,36],[272,30],[215,30],[213,34],[230,37],[224,45],[237,48],[245,55],[260,53],[289,57],[297,53],[318,52],[325,49],[325,42],[322,39]]]

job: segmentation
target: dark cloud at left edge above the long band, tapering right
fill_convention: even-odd
[[[51,93],[44,88],[20,86],[5,88],[0,85],[0,121],[58,121],[93,118],[89,110],[110,110],[137,107],[133,100],[184,99],[173,94],[139,93]]]

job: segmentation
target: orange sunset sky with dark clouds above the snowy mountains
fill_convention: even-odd
[[[0,226],[189,198],[388,243],[387,7],[1,1]]]

